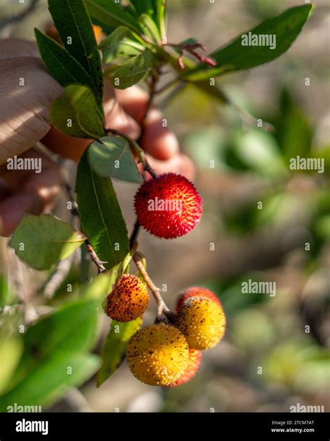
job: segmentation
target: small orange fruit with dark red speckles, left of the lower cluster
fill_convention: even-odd
[[[134,274],[123,274],[108,295],[106,313],[118,322],[129,322],[142,316],[148,302],[146,284]]]

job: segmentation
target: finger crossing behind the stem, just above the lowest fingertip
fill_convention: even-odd
[[[133,86],[123,91],[116,91],[116,96],[127,114],[141,124],[148,107],[148,93]],[[150,109],[148,112],[141,141],[144,150],[158,160],[168,160],[180,150],[178,139],[167,127],[164,127],[164,116],[157,109]]]

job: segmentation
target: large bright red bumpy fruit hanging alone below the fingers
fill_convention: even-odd
[[[203,203],[194,185],[175,173],[143,183],[135,195],[139,223],[158,238],[189,233],[201,220]]]

